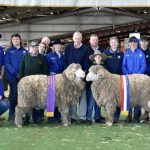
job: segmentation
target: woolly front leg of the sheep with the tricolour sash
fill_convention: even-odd
[[[107,121],[106,125],[112,126],[114,121],[114,114],[116,111],[116,107],[113,105],[113,103],[107,103],[105,106],[106,114],[107,114]]]

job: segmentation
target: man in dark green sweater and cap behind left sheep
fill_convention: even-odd
[[[44,56],[38,52],[38,43],[32,41],[29,47],[29,53],[27,53],[21,64],[19,77],[20,79],[25,76],[45,74],[48,75],[48,68],[45,62]],[[29,124],[29,116],[26,115],[24,124]],[[44,119],[44,110],[33,109],[32,118],[34,123],[40,123]]]

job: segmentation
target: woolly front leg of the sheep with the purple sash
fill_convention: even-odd
[[[60,113],[61,113],[62,125],[67,127],[69,124],[69,122],[68,122],[68,114],[69,114],[68,105],[61,105]]]

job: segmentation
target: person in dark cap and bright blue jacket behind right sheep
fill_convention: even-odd
[[[135,36],[129,38],[130,48],[124,53],[123,58],[123,74],[144,74],[146,72],[146,60],[144,53],[137,48],[138,40]],[[140,107],[134,107],[134,122],[139,122]],[[129,110],[129,115],[126,122],[132,121],[132,108]]]

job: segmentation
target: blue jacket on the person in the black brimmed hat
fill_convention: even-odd
[[[59,58],[56,52],[50,52],[46,55],[46,61],[50,74],[58,74],[64,71],[65,67],[63,57],[63,54],[61,54],[61,57]]]

